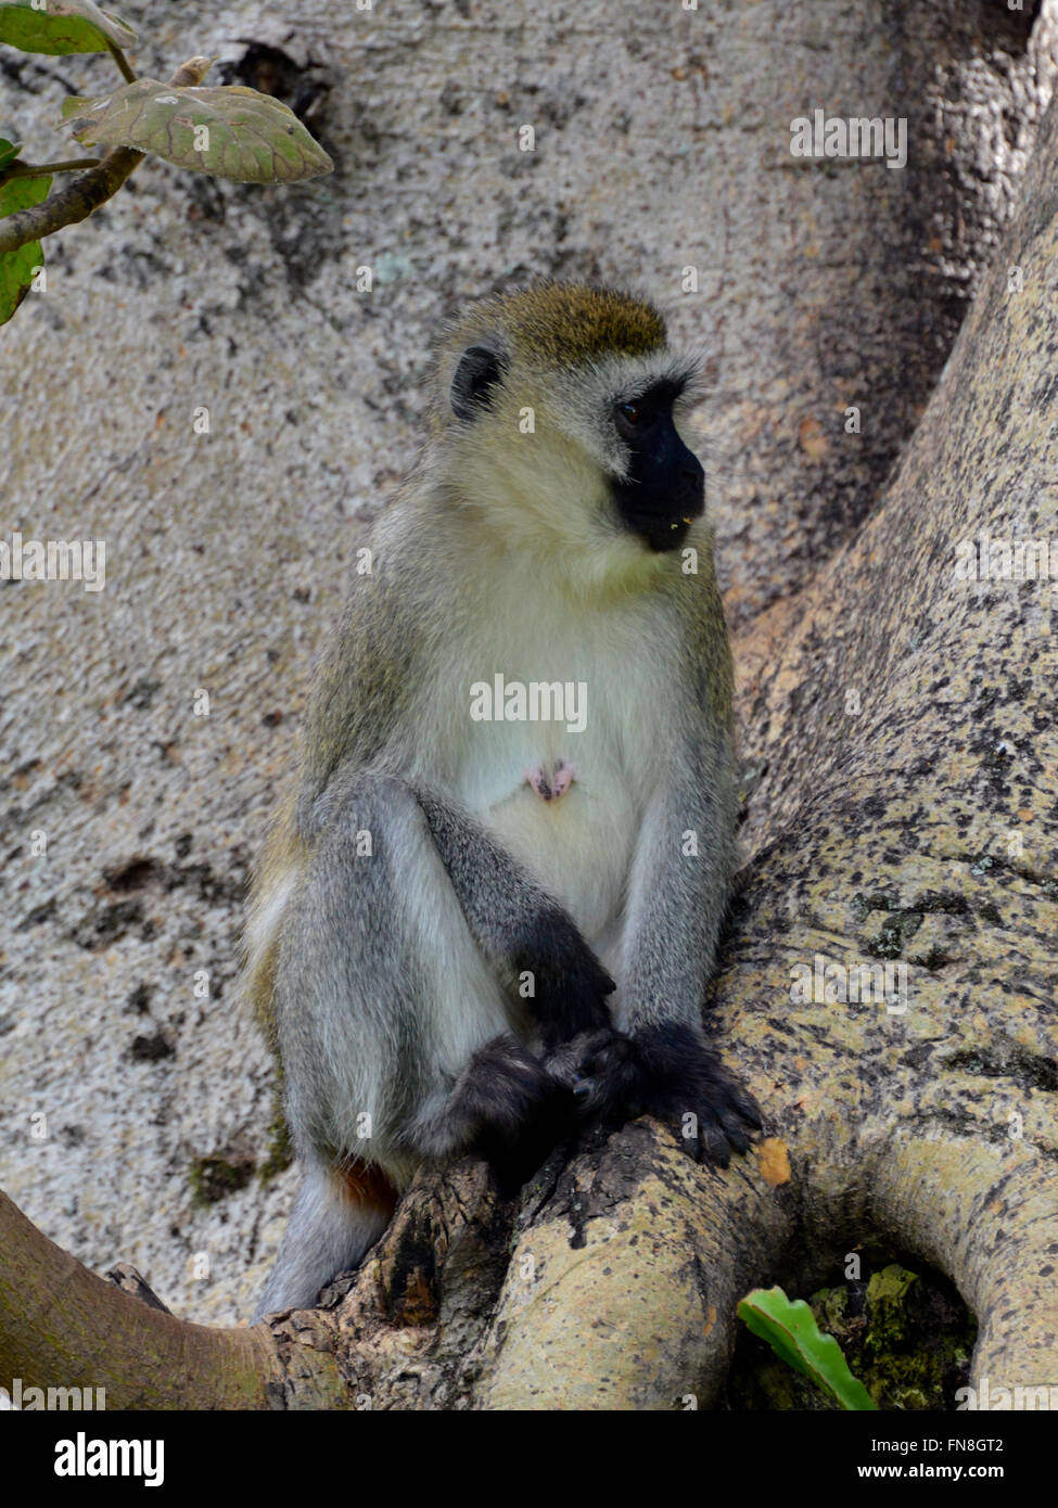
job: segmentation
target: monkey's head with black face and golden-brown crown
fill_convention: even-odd
[[[679,434],[694,374],[629,294],[543,284],[486,299],[438,351],[447,490],[519,544],[580,547],[581,569],[649,569],[705,510]]]

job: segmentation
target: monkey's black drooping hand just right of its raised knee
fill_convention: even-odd
[[[608,1028],[607,995],[617,988],[558,906],[534,918],[533,935],[522,941],[518,974],[530,974],[530,1004],[545,1053],[584,1031]]]

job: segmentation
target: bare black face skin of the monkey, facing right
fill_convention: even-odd
[[[678,549],[705,510],[705,472],[672,422],[678,397],[675,383],[658,383],[614,407],[617,434],[631,452],[628,477],[613,483],[614,504],[625,528],[655,552]]]

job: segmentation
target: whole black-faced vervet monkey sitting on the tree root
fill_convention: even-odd
[[[424,1157],[649,1111],[726,1164],[761,1123],[702,1028],[737,777],[693,375],[650,305],[580,285],[439,345],[255,885],[302,1166],[255,1318],[356,1265]]]

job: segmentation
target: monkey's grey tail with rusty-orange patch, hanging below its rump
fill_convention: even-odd
[[[364,1169],[362,1173],[371,1170]],[[383,1176],[350,1178],[308,1161],[290,1223],[251,1324],[276,1309],[308,1309],[337,1273],[356,1267],[389,1224],[395,1191]]]

